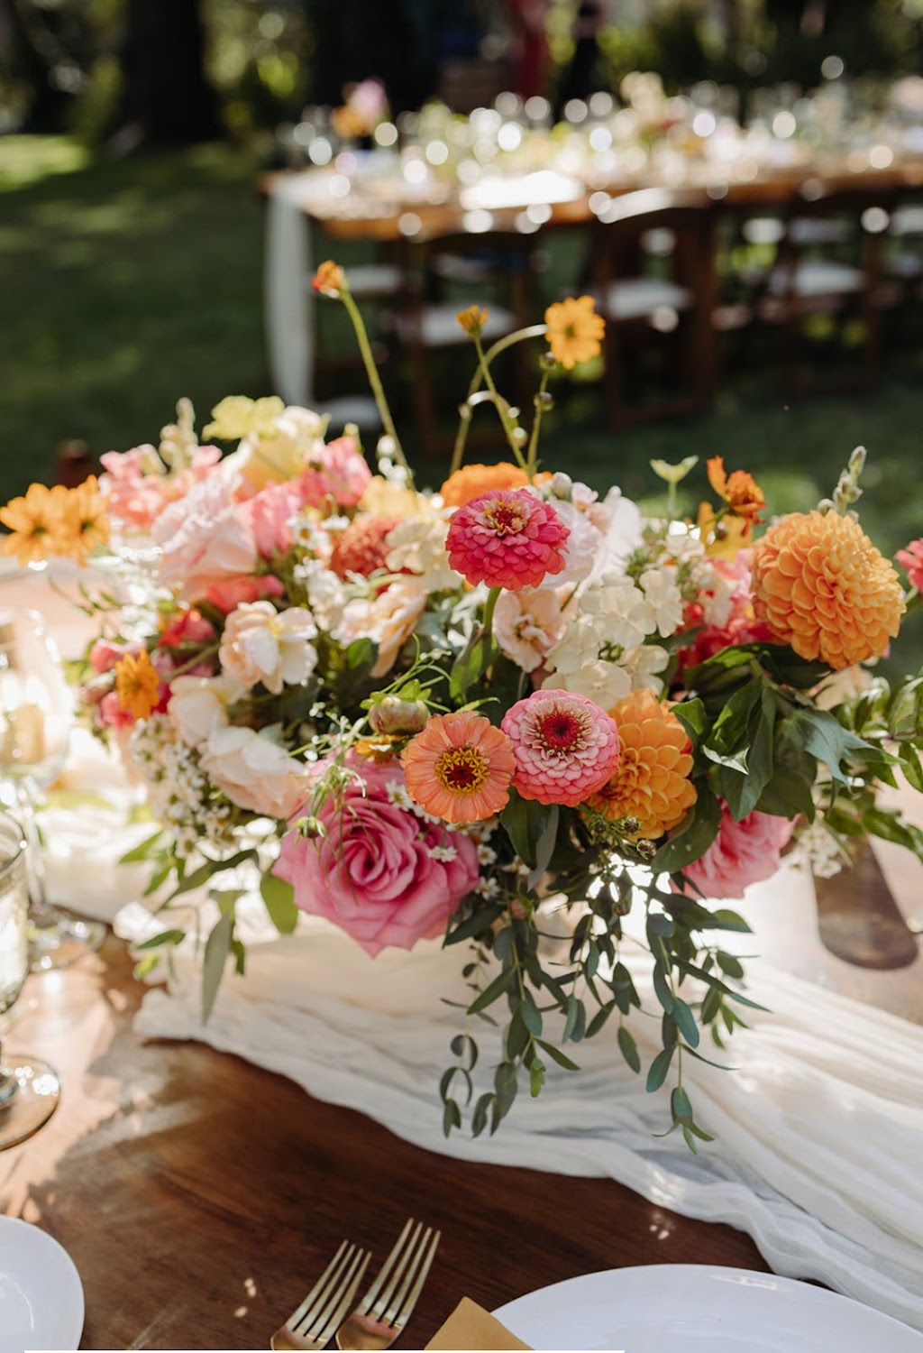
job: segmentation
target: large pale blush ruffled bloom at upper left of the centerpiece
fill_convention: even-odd
[[[161,513],[151,528],[161,547],[159,578],[197,601],[215,583],[251,574],[257,543],[234,501],[236,476],[215,471]]]

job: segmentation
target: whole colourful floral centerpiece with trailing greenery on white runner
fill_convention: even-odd
[[[243,863],[282,932],[309,912],[372,955],[442,938],[470,988],[445,1128],[469,1114],[493,1131],[520,1082],[538,1095],[584,1038],[612,1036],[641,1072],[635,909],[662,1031],[647,1086],[672,1078],[670,1122],[695,1149],[684,1062],[753,1004],[722,942],[747,925],[726,901],[795,842],[827,873],[869,833],[923,856],[923,833],[877,797],[897,770],[923,789],[923,685],[864,666],[919,599],[923,541],[899,555],[901,584],[853,511],[862,451],[830,501],[768,529],[757,483],[720,457],[695,518],[676,509],[695,457],[655,463],[658,517],[542,469],[549,379],[599,353],[589,298],[487,352],[484,311],[462,311],[477,369],[451,471],[422,491],[346,276],[324,264],[315,285],[355,323],[385,429],[374,472],[354,432],[327,440],[309,410],[228,398],[204,445],[181,403],[159,448],[0,511],[4,551],[26,561],[154,547],[134,556],[130,625],[118,568],[84,587],[100,633],[76,670],[85,717],[141,771],[159,824],[135,852],[168,893],[141,970],[184,939],[178,904]],[[535,340],[527,428],[492,364]],[[509,456],[464,464],[484,399]],[[138,557],[155,560],[143,605]],[[211,897],[204,1017],[245,965],[239,889]],[[553,957],[550,911],[569,921]],[[503,1024],[503,1051],[474,1096],[478,1017]]]

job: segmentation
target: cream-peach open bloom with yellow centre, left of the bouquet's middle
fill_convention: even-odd
[[[276,610],[270,601],[243,602],[227,617],[218,656],[222,670],[245,690],[262,682],[278,695],[282,686],[300,686],[314,671],[318,626],[309,610]]]

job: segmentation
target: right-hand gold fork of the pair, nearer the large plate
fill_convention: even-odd
[[[391,1348],[414,1314],[441,1234],[428,1226],[423,1231],[414,1218],[407,1222],[372,1287],[336,1330],[336,1348]]]

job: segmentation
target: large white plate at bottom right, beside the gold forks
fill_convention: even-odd
[[[923,1353],[923,1334],[826,1288],[699,1264],[587,1273],[493,1314],[534,1349]]]

